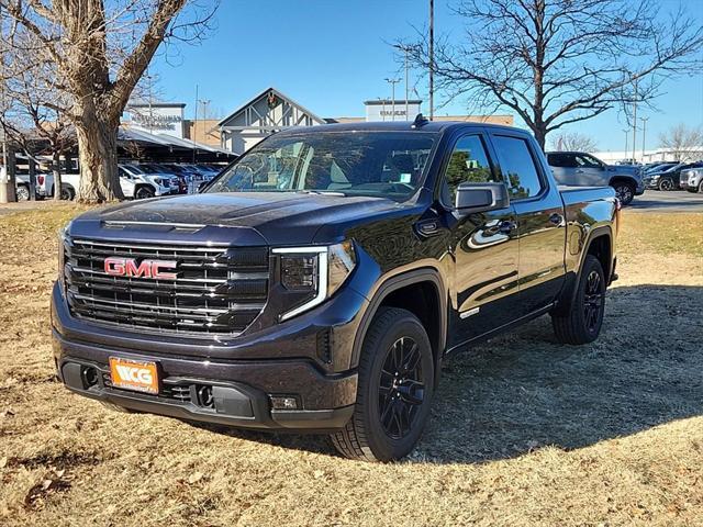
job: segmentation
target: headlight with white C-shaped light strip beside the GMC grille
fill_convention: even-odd
[[[354,244],[346,240],[324,247],[286,247],[280,255],[280,284],[292,309],[280,315],[292,318],[332,296],[356,266]]]

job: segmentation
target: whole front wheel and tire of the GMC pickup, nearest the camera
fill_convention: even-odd
[[[381,307],[364,340],[354,415],[331,436],[339,453],[364,461],[392,461],[408,455],[429,417],[434,365],[427,333],[417,317],[405,310]]]

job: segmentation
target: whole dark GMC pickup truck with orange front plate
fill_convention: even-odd
[[[58,375],[115,410],[398,459],[455,351],[544,314],[562,343],[598,337],[618,209],[611,188],[558,189],[511,127],[279,132],[198,194],[63,231]]]

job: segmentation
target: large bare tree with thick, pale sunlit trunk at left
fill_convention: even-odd
[[[12,57],[31,57],[67,96],[66,104],[44,105],[75,126],[79,200],[123,198],[116,139],[125,104],[159,46],[200,40],[215,8],[216,0],[0,0]]]

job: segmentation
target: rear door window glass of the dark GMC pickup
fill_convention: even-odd
[[[511,199],[521,200],[537,195],[542,191],[542,181],[527,142],[520,137],[494,135],[493,144],[498,150],[503,178],[507,180]]]

